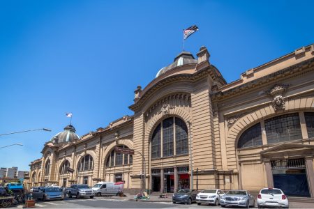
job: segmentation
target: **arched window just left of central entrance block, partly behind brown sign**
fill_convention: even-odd
[[[119,145],[121,148],[128,148],[125,145]],[[107,157],[106,167],[118,167],[124,164],[132,164],[133,156],[128,154],[116,153],[114,149],[111,151],[110,155]]]

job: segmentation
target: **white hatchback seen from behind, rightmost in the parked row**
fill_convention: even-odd
[[[264,188],[257,196],[258,208],[289,208],[287,196],[281,189]]]

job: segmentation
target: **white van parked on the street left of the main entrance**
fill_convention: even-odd
[[[118,182],[98,182],[94,187],[91,187],[95,192],[96,196],[101,195],[117,195],[121,193],[124,189],[124,183]]]

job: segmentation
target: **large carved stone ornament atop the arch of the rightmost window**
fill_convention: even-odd
[[[285,98],[283,98],[283,93],[285,93],[286,89],[287,85],[276,84],[269,90],[269,95],[274,98],[271,103],[275,111],[285,110]]]

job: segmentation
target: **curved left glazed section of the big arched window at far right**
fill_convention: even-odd
[[[262,145],[262,130],[260,123],[248,128],[238,141],[238,148]]]

